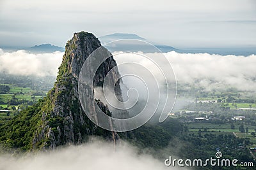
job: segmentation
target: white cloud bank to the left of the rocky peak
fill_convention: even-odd
[[[0,48],[0,72],[22,76],[57,75],[63,53],[4,52]]]

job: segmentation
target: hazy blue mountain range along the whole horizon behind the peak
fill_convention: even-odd
[[[115,43],[108,44],[111,41],[116,41],[119,39],[138,39],[140,41],[134,41],[134,43],[124,43],[118,45],[115,45]],[[151,46],[145,46],[145,43],[143,41],[149,42],[152,45],[156,46],[161,52],[179,52],[179,53],[209,53],[209,54],[218,54],[218,55],[252,55],[256,54],[256,48],[255,47],[237,47],[237,48],[183,48],[178,49],[174,48],[173,46],[169,45],[162,45],[161,43],[154,43],[152,41],[149,41],[145,38],[142,38],[136,34],[128,34],[128,33],[115,33],[115,34],[109,34],[106,36],[99,37],[100,43],[108,48],[111,52],[114,51],[122,51],[122,50],[133,50],[134,52],[156,52],[156,49],[152,49]],[[49,43],[42,44],[42,45],[35,45],[31,47],[16,47],[16,46],[0,46],[0,48],[4,49],[5,51],[16,51],[16,50],[27,50],[32,53],[44,53],[44,52],[64,52],[65,48],[60,46],[51,45]]]

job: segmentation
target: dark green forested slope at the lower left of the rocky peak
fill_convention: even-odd
[[[0,126],[0,141],[4,148],[31,150],[36,129],[42,125],[42,107],[45,99],[21,111],[12,120]],[[45,107],[44,107],[45,108]]]

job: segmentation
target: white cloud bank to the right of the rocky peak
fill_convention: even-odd
[[[143,53],[151,59],[159,57],[157,53]],[[206,90],[212,88],[236,87],[239,90],[256,90],[256,55],[211,55],[209,53],[164,53],[172,64],[178,83],[189,83],[204,87]],[[132,62],[147,67],[154,71],[156,66],[146,58],[136,59],[136,55],[125,53],[123,57],[116,57],[117,62],[131,59]],[[169,67],[162,64],[161,69]],[[131,67],[132,69],[132,67]],[[122,70],[120,70],[122,73]],[[156,73],[156,72],[155,72]],[[168,77],[167,77],[168,78]],[[125,82],[124,82],[125,83]]]

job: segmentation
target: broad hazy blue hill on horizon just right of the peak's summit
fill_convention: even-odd
[[[99,37],[100,42],[106,46],[106,48],[108,48],[108,50],[110,50],[111,52],[113,51],[120,51],[120,50],[128,50],[128,49],[133,49],[134,52],[137,51],[143,51],[143,52],[154,52],[152,51],[152,49],[143,46],[142,44],[140,44],[140,42],[138,42],[138,44],[118,44],[118,46],[113,46],[113,45],[108,45],[106,43],[109,43],[111,41],[116,41],[118,39],[139,39],[139,40],[143,40],[143,41],[147,41],[147,39],[142,38],[136,34],[127,34],[127,33],[115,33],[115,34],[109,34],[106,36],[101,36]],[[150,41],[147,41],[149,43],[152,43]],[[168,45],[159,45],[156,43],[152,43],[154,46],[156,46],[157,48],[159,48],[159,50],[161,50],[162,52],[172,52],[172,51],[177,51],[178,49],[173,48],[172,46],[168,46]]]

